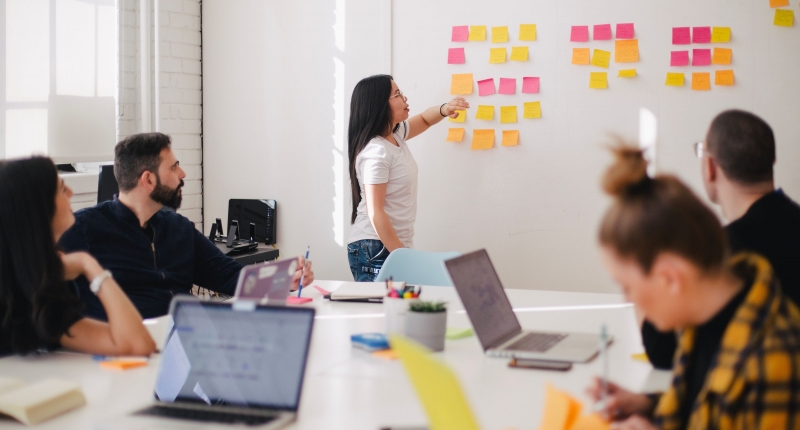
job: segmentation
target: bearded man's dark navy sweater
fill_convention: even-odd
[[[110,270],[143,318],[165,315],[172,297],[189,294],[192,285],[233,295],[242,268],[183,215],[161,210],[143,229],[116,197],[76,212],[58,244],[65,252],[86,251]],[[86,278],[76,283],[84,315],[106,320]]]

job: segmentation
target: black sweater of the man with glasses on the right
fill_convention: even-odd
[[[800,305],[800,206],[782,190],[756,200],[747,212],[725,227],[731,254],[752,251],[772,264],[784,294]],[[671,369],[677,349],[675,333],[642,325],[642,342],[650,362]]]

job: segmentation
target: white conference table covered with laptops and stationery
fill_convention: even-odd
[[[341,282],[315,281],[329,291]],[[636,391],[663,390],[669,373],[657,371],[633,354],[642,352],[634,309],[620,294],[506,289],[520,324],[525,329],[598,333],[603,324],[614,337],[609,347],[610,379]],[[402,364],[353,348],[350,335],[384,331],[383,305],[330,302],[315,288],[303,296],[313,301],[302,306],[317,310],[311,353],[303,384],[297,421],[289,429],[424,428],[426,417]],[[448,327],[471,327],[452,287],[423,287],[423,300],[448,303]],[[156,341],[163,334],[164,319],[148,320]],[[466,397],[487,430],[536,429],[551,384],[567,391],[591,408],[584,393],[591,378],[600,375],[602,363],[594,359],[575,364],[566,372],[508,367],[507,359],[483,354],[477,337],[447,340],[443,352],[434,357],[457,375]],[[119,418],[146,406],[153,399],[159,355],[146,367],[130,370],[100,368],[91,356],[55,352],[37,357],[0,359],[0,377],[29,383],[46,378],[79,382],[87,405],[46,421],[42,429],[114,429]],[[0,428],[22,428],[22,424],[0,419]],[[125,428],[128,428],[125,426]],[[140,428],[140,427],[137,427]],[[164,420],[159,429],[192,428],[191,422]]]

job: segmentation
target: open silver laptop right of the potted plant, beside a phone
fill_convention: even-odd
[[[576,363],[597,355],[597,334],[522,330],[485,249],[444,265],[486,355]]]

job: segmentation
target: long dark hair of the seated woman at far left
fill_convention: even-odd
[[[59,191],[49,158],[0,161],[0,343],[18,354],[58,343],[79,318],[53,237]]]

